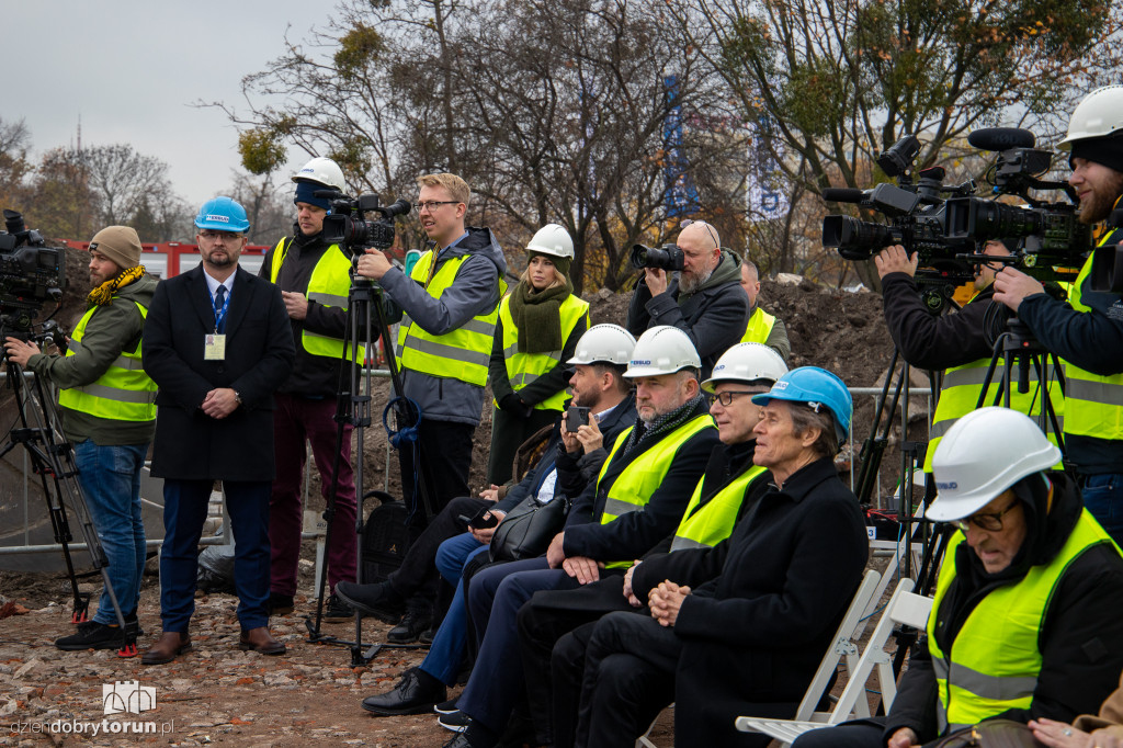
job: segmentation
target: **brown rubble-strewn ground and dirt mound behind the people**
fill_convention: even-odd
[[[71,258],[71,277],[83,279],[84,265]],[[72,325],[84,308],[85,289],[75,282],[69,292],[60,321]],[[608,291],[588,294],[592,321],[623,323],[628,295]],[[851,386],[879,386],[892,354],[892,343],[882,321],[880,299],[871,293],[848,293],[818,286],[807,281],[780,284],[766,281],[761,305],[783,319],[792,343],[791,366],[818,365],[839,374]],[[923,386],[915,382],[914,385]],[[381,413],[389,395],[389,382],[380,380],[374,393],[374,411]],[[0,419],[13,420],[11,395],[0,398]],[[870,430],[875,410],[871,396],[855,401],[855,440]],[[914,403],[923,418],[923,401]],[[471,485],[484,485],[484,469],[491,436],[490,412],[476,430]],[[915,438],[915,437],[914,437]],[[897,431],[889,437],[884,458],[882,490],[892,491],[898,457],[894,451]],[[396,457],[386,451],[381,427],[364,430],[364,484],[366,490],[389,487],[398,494]],[[8,455],[3,480],[4,501],[13,501],[18,458]],[[387,471],[387,462],[390,468]],[[844,462],[844,460],[843,460]],[[844,466],[844,465],[840,465]],[[309,509],[322,508],[318,476],[313,476]],[[33,509],[42,504],[31,504]],[[368,507],[369,509],[369,507]],[[227,742],[245,746],[326,745],[438,746],[450,737],[432,715],[374,719],[363,712],[359,701],[391,687],[407,668],[424,655],[418,649],[386,649],[368,665],[351,667],[347,649],[310,644],[303,614],[314,612],[312,560],[314,546],[307,541],[301,562],[300,593],[294,614],[275,617],[272,630],[285,642],[287,654],[263,657],[237,648],[236,600],[212,594],[197,600],[192,637],[194,650],[165,666],[143,666],[139,658],[119,658],[111,651],[62,653],[52,641],[73,630],[70,622],[70,592],[58,574],[0,572],[0,745],[110,746],[153,744],[200,746]],[[100,585],[86,583],[97,591]],[[141,590],[139,617],[145,629],[143,651],[159,633],[159,596],[155,559],[149,559]],[[325,631],[343,638],[354,636],[354,624],[325,623]],[[365,619],[365,641],[383,641],[389,627]],[[107,717],[103,686],[139,681],[156,688],[157,708],[139,714]],[[456,690],[453,691],[455,693]],[[113,722],[155,723],[156,733],[92,735],[92,724]],[[652,739],[673,745],[670,712],[660,718]],[[71,724],[71,732],[54,732]],[[84,728],[83,735],[73,735]],[[141,729],[145,728],[140,724]]]

